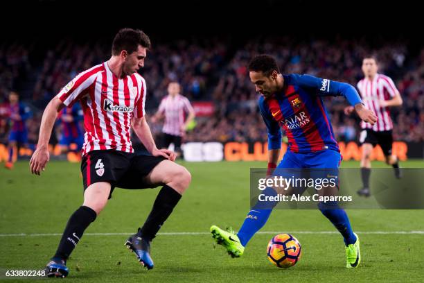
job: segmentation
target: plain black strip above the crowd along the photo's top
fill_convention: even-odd
[[[2,4],[3,40],[51,44],[113,37],[118,28],[141,28],[154,41],[182,37],[291,35],[331,39],[335,35],[402,38],[423,42],[416,1],[13,1]]]

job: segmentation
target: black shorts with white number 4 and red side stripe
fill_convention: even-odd
[[[106,151],[90,151],[81,162],[84,191],[96,182],[109,182],[112,186],[109,198],[115,187],[123,189],[154,188],[161,184],[151,184],[145,180],[152,169],[164,157],[136,155],[113,149]]]

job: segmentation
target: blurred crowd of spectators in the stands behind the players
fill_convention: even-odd
[[[71,40],[44,51],[34,44],[0,45],[0,143],[7,143],[4,109],[10,90],[17,90],[21,101],[33,109],[27,126],[30,143],[35,144],[48,101],[80,71],[108,60],[108,46]],[[363,56],[373,53],[379,58],[379,72],[390,76],[403,96],[403,106],[391,109],[394,138],[424,141],[424,48],[412,53],[408,47],[396,40],[370,46],[363,39],[301,41],[290,37],[237,44],[218,39],[154,44],[140,71],[148,86],[146,112],[154,114],[168,83],[178,81],[182,94],[192,102],[213,101],[215,105],[211,117],[196,118],[197,126],[187,132],[185,141],[265,141],[266,129],[256,104],[258,94],[247,71],[250,58],[269,53],[276,56],[283,74],[311,74],[355,86],[362,78]],[[325,102],[337,139],[357,140],[358,119],[344,115],[344,98],[325,98]],[[160,124],[151,124],[151,128],[154,135],[160,135]]]

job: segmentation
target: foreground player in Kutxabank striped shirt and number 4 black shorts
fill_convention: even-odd
[[[143,266],[153,268],[150,242],[191,182],[190,173],[173,162],[175,153],[157,148],[145,121],[146,85],[137,71],[144,65],[150,45],[142,31],[123,28],[114,38],[112,57],[76,76],[44,110],[37,150],[30,160],[30,169],[37,175],[48,162],[48,139],[58,112],[79,101],[85,124],[81,165],[84,203],[69,218],[58,250],[46,266],[50,277],[68,275],[69,255],[107,204],[114,187],[164,186],[143,226],[125,242]],[[151,155],[134,154],[131,128]]]

